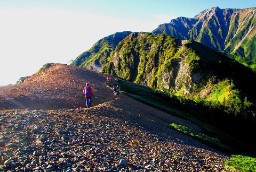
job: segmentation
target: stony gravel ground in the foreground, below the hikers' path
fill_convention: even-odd
[[[225,170],[225,154],[134,114],[122,99],[130,98],[90,109],[0,111],[0,170]]]

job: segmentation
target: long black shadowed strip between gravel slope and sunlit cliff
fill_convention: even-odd
[[[117,79],[117,82],[121,85],[122,91],[135,100],[174,116],[187,119],[200,126],[204,134],[220,140],[220,145],[210,144],[212,147],[227,153],[237,153],[239,151],[255,156],[254,142],[250,137],[253,124],[230,118],[220,109],[212,109],[192,100],[176,97],[120,79]],[[230,149],[227,149],[226,146],[222,147],[222,143],[227,144]]]

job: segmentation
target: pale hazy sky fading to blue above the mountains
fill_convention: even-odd
[[[68,63],[117,31],[152,31],[178,16],[255,1],[12,1],[0,0],[0,85],[14,84],[43,64]]]

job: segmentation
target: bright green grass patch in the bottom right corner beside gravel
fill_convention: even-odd
[[[242,155],[232,155],[229,161],[225,162],[226,168],[239,171],[256,171],[256,158]]]

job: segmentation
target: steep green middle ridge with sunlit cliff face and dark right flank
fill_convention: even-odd
[[[217,101],[236,89],[247,95],[247,79],[255,78],[248,68],[195,41],[146,32],[119,42],[102,72],[177,96]]]

